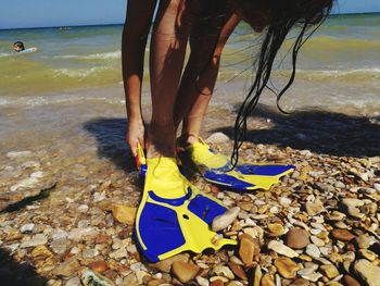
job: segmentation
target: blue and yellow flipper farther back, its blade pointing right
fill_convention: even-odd
[[[238,163],[231,169],[227,157],[202,139],[182,148],[204,178],[215,185],[237,189],[269,189],[280,177],[294,171],[294,165]]]

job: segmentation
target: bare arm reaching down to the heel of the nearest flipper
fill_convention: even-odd
[[[144,145],[141,115],[141,84],[149,29],[157,0],[128,0],[122,38],[123,80],[128,114],[126,140],[136,156],[137,142]]]

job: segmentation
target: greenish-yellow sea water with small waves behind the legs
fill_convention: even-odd
[[[301,49],[294,85],[280,101],[289,112],[319,110],[373,122],[380,113],[380,14],[333,15]],[[55,148],[75,154],[94,140],[112,149],[125,135],[122,82],[122,25],[0,30],[0,149]],[[292,33],[279,52],[271,87],[290,76]],[[37,47],[30,54],[12,51],[16,40]],[[253,63],[262,36],[241,23],[223,54],[205,129],[232,125],[254,78]],[[143,112],[149,121],[150,87],[145,52]],[[276,107],[265,91],[262,107]],[[228,119],[228,120],[226,120]],[[99,122],[98,122],[99,123]],[[106,128],[119,128],[113,138]],[[90,130],[90,132],[89,132]],[[115,135],[116,136],[116,135]],[[122,138],[122,139],[121,139]],[[94,142],[94,141],[93,141]],[[65,146],[65,148],[63,148]],[[73,147],[75,146],[75,148]]]

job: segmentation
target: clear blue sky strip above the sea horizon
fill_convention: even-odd
[[[1,0],[0,29],[121,24],[126,1]],[[338,0],[338,3],[334,13],[380,12],[379,0]]]

